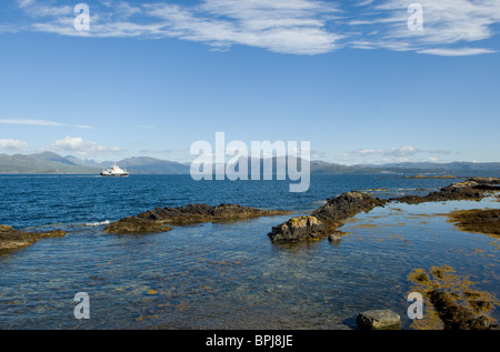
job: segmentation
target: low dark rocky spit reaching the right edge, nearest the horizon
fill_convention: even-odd
[[[427,195],[404,195],[390,201],[420,204],[423,202],[444,202],[452,200],[481,200],[491,191],[500,191],[499,178],[472,178],[463,182],[451,183],[439,191]]]

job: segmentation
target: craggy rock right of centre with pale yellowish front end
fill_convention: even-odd
[[[337,198],[328,199],[324,205],[308,217],[291,218],[287,222],[273,227],[268,235],[272,242],[322,240],[332,234],[348,218],[384,204],[386,201],[373,198],[369,193],[346,192]]]

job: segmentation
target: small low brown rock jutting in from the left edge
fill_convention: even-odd
[[[23,249],[42,238],[60,238],[63,235],[66,235],[66,232],[61,230],[50,232],[24,232],[9,225],[0,225],[0,254]]]

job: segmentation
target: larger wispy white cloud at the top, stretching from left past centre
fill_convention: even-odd
[[[204,0],[191,7],[121,1],[108,3],[107,11],[92,8],[90,31],[73,28],[74,13],[67,6],[19,4],[32,17],[52,14],[32,29],[62,36],[180,38],[218,50],[244,44],[296,54],[329,52],[342,37],[326,29],[336,6],[319,0]],[[133,16],[141,16],[140,21],[130,21]]]

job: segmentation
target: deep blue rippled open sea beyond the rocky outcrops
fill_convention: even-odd
[[[456,180],[453,180],[456,181]],[[309,211],[351,190],[389,189],[387,198],[443,187],[450,180],[380,175],[313,175],[307,192],[289,181],[193,181],[189,175],[0,175],[0,223],[16,228],[113,221],[157,207],[238,203],[262,209]],[[420,193],[427,193],[420,191]]]

